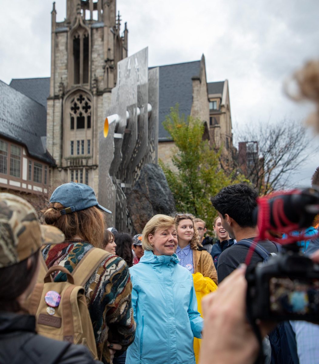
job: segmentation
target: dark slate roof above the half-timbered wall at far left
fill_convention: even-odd
[[[0,135],[23,144],[32,157],[54,164],[41,141],[46,134],[45,107],[0,81]]]

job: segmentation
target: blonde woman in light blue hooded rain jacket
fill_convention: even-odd
[[[195,364],[193,340],[201,337],[203,319],[177,244],[174,218],[155,215],[145,225],[144,256],[129,268],[137,328],[125,364]]]

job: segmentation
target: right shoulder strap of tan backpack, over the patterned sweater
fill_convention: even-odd
[[[80,260],[79,264],[73,269],[72,276],[74,284],[84,286],[101,263],[111,255],[103,249],[92,248]],[[85,264],[83,264],[85,262]]]

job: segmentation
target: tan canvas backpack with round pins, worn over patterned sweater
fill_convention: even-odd
[[[72,274],[59,265],[48,270],[40,254],[38,282],[28,297],[27,304],[29,313],[36,317],[37,333],[51,339],[85,345],[95,360],[101,358],[97,357],[84,286],[109,254],[105,250],[92,248]],[[67,274],[66,282],[53,282],[51,273],[57,270]]]

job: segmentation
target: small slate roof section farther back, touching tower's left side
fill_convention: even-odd
[[[10,86],[47,108],[50,78],[13,78]]]

